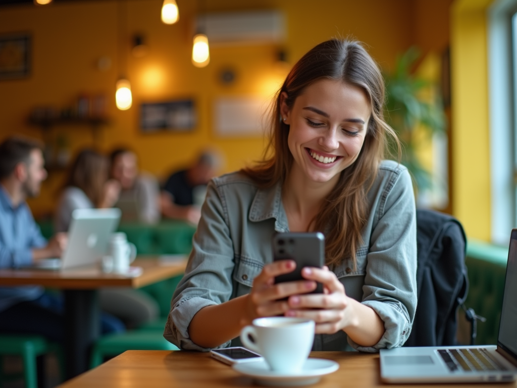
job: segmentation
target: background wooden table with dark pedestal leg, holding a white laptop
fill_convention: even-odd
[[[142,274],[137,277],[103,273],[98,266],[64,271],[2,269],[0,286],[39,285],[63,290],[65,375],[72,378],[88,370],[90,350],[100,335],[98,289],[143,287],[184,273],[186,264],[186,260],[166,261],[156,257],[139,257],[131,264],[143,268]]]

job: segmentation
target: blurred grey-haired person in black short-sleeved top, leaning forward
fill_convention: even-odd
[[[205,150],[192,166],[173,173],[161,191],[163,216],[197,225],[201,218],[206,185],[216,175],[220,165],[221,156],[213,150]]]

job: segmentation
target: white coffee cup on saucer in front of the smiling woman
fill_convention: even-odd
[[[268,317],[253,320],[240,332],[245,347],[261,354],[273,371],[296,374],[311,352],[314,321]]]

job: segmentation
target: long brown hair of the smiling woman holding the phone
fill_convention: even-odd
[[[400,155],[397,135],[384,121],[384,79],[377,64],[359,42],[328,40],[318,44],[294,65],[271,108],[270,135],[264,159],[242,171],[262,188],[285,181],[293,155],[287,145],[290,127],[280,119],[280,94],[287,94],[284,101],[292,108],[305,88],[322,78],[359,87],[371,106],[372,113],[359,156],[341,172],[339,182],[325,198],[325,204],[314,220],[314,229],[326,235],[326,263],[333,266],[349,258],[355,266],[356,250],[363,243],[361,231],[368,219],[366,193],[385,157],[386,135],[397,144]]]

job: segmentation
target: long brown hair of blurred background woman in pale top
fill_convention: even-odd
[[[108,159],[93,150],[83,150],[75,157],[65,187],[78,187],[98,207],[104,184],[108,180]]]

